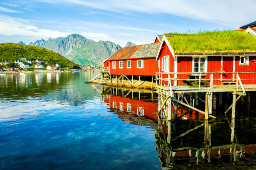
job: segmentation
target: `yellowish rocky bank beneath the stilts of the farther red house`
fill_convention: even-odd
[[[138,80],[133,80],[133,84],[131,84],[128,80],[119,80],[115,82],[115,80],[112,80],[112,83],[110,84],[110,80],[101,80],[101,79],[95,79],[95,80],[89,80],[87,82],[88,84],[99,84],[99,85],[108,85],[112,87],[128,87],[128,88],[137,88],[137,89],[150,89],[155,90],[156,83],[153,82],[152,88],[151,88],[151,82],[150,81],[142,81],[140,82],[140,85],[138,84]]]

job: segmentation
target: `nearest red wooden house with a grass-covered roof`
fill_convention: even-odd
[[[156,56],[160,72],[223,72],[214,78],[235,79],[236,74],[225,72],[256,72],[256,37],[234,31],[202,32],[197,34],[166,34]],[[167,75],[165,75],[167,76]],[[256,78],[255,74],[241,74],[240,78]],[[171,75],[187,79],[186,74]],[[210,78],[207,75],[205,78]],[[243,80],[243,84],[256,84]],[[167,84],[166,81],[163,82]],[[220,85],[220,81],[214,81]],[[174,85],[182,85],[174,81]]]

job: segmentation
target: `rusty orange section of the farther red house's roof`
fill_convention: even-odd
[[[142,45],[119,48],[108,60],[120,60],[130,58]]]

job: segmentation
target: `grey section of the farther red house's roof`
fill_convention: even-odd
[[[144,44],[130,58],[156,57],[157,52],[159,50],[159,46],[160,46],[160,42]]]

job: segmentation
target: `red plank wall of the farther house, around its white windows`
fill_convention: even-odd
[[[127,61],[131,60],[131,68],[127,68]],[[155,76],[159,72],[158,60],[156,57],[138,58],[128,60],[115,60],[115,68],[113,68],[113,60],[110,61],[110,75],[145,75]],[[137,60],[143,60],[143,68],[137,68]],[[119,68],[119,61],[123,61],[123,68]]]

